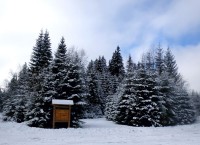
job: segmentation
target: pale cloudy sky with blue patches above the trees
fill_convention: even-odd
[[[29,62],[40,30],[55,52],[62,36],[88,60],[110,59],[117,45],[134,61],[159,42],[170,46],[179,71],[200,91],[199,0],[0,0],[0,85]]]

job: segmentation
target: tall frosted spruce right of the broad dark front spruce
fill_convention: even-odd
[[[194,109],[191,107],[185,83],[178,73],[175,58],[169,48],[164,56],[164,66],[164,71],[159,76],[159,92],[162,94],[165,108],[162,114],[162,124],[191,123],[194,121]]]

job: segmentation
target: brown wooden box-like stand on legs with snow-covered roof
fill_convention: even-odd
[[[70,127],[72,100],[53,99],[53,128],[56,123],[66,123]]]

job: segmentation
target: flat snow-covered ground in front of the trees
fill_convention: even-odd
[[[86,119],[83,128],[41,129],[0,121],[0,145],[200,145],[200,119],[174,127],[130,127]]]

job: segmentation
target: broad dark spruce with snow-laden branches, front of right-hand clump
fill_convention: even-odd
[[[133,126],[161,126],[159,97],[156,94],[154,77],[144,68],[140,68],[135,77],[126,80],[125,92],[119,102],[119,113],[116,117],[118,123]]]

